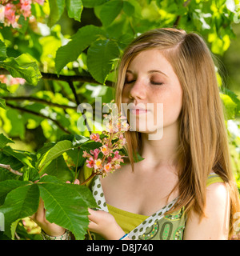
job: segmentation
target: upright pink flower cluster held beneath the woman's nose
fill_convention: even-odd
[[[112,102],[111,102],[112,103]],[[102,139],[99,134],[91,134],[90,140],[100,142],[102,146],[90,152],[83,152],[82,157],[86,159],[86,166],[93,168],[93,173],[102,175],[114,172],[119,169],[121,162],[125,156],[119,154],[119,150],[126,144],[126,138],[123,133],[129,130],[129,125],[126,122],[126,117],[122,114],[116,114],[117,106],[109,104],[110,114],[104,115],[106,130],[102,132]]]

